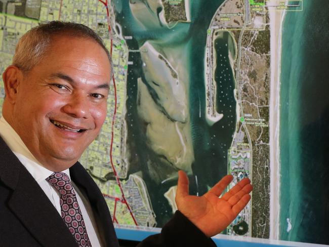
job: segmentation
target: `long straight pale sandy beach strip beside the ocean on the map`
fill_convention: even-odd
[[[273,4],[275,1],[269,1]],[[270,47],[271,47],[271,80],[270,80],[270,239],[279,237],[279,191],[280,191],[280,73],[282,24],[285,11],[269,11]]]

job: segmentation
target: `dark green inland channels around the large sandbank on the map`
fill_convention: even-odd
[[[183,49],[186,54],[180,62],[190,75],[189,81],[189,112],[191,137],[193,140],[194,162],[193,174],[190,176],[190,193],[203,194],[208,187],[213,186],[223,175],[227,173],[227,150],[232,142],[232,134],[235,128],[235,100],[233,96],[234,82],[232,71],[228,61],[228,47],[226,35],[217,40],[218,55],[223,55],[222,67],[216,71],[220,74],[225,69],[225,81],[218,83],[217,109],[224,114],[224,118],[213,126],[209,126],[205,119],[205,89],[204,89],[204,51],[207,40],[207,29],[215,11],[223,0],[191,1],[191,22],[179,23],[172,29],[162,26],[156,21],[157,16],[151,14],[148,27],[144,28],[131,13],[129,1],[114,1],[116,7],[116,21],[121,25],[124,36],[133,36],[127,40],[129,49],[136,50],[146,40],[151,40],[163,49]],[[146,15],[147,13],[145,13]],[[171,207],[163,196],[170,186],[177,181],[157,183],[150,171],[166,173],[173,169],[163,161],[147,145],[145,136],[145,123],[137,114],[137,78],[141,77],[148,85],[142,71],[142,61],[139,53],[130,53],[129,61],[133,65],[128,67],[127,80],[127,126],[128,149],[133,153],[129,159],[129,173],[142,172],[146,183],[152,207],[156,214],[158,227],[162,227],[172,216]],[[156,93],[153,97],[156,98]],[[223,92],[223,93],[222,93]],[[225,96],[225,97],[223,97]],[[224,126],[225,128],[222,128]]]

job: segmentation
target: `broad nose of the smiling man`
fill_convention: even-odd
[[[66,114],[72,117],[88,118],[90,112],[88,97],[81,94],[71,95],[62,109]]]

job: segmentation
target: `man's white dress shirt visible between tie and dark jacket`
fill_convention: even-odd
[[[9,148],[21,161],[23,166],[32,175],[38,185],[43,189],[49,200],[61,215],[61,205],[59,203],[59,191],[50,185],[46,178],[53,174],[52,171],[40,164],[32,153],[28,150],[22,139],[9,125],[9,123],[2,116],[0,118],[0,136],[4,139]],[[69,169],[62,171],[70,178]],[[89,200],[81,193],[78,187],[71,181],[74,190],[76,191],[76,199],[79,203],[81,214],[83,215],[89,240],[93,247],[101,246],[101,238],[97,230],[97,224],[93,215],[93,210]]]

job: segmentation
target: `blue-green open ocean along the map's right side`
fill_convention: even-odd
[[[329,244],[329,1],[303,2],[282,29],[280,239]]]

